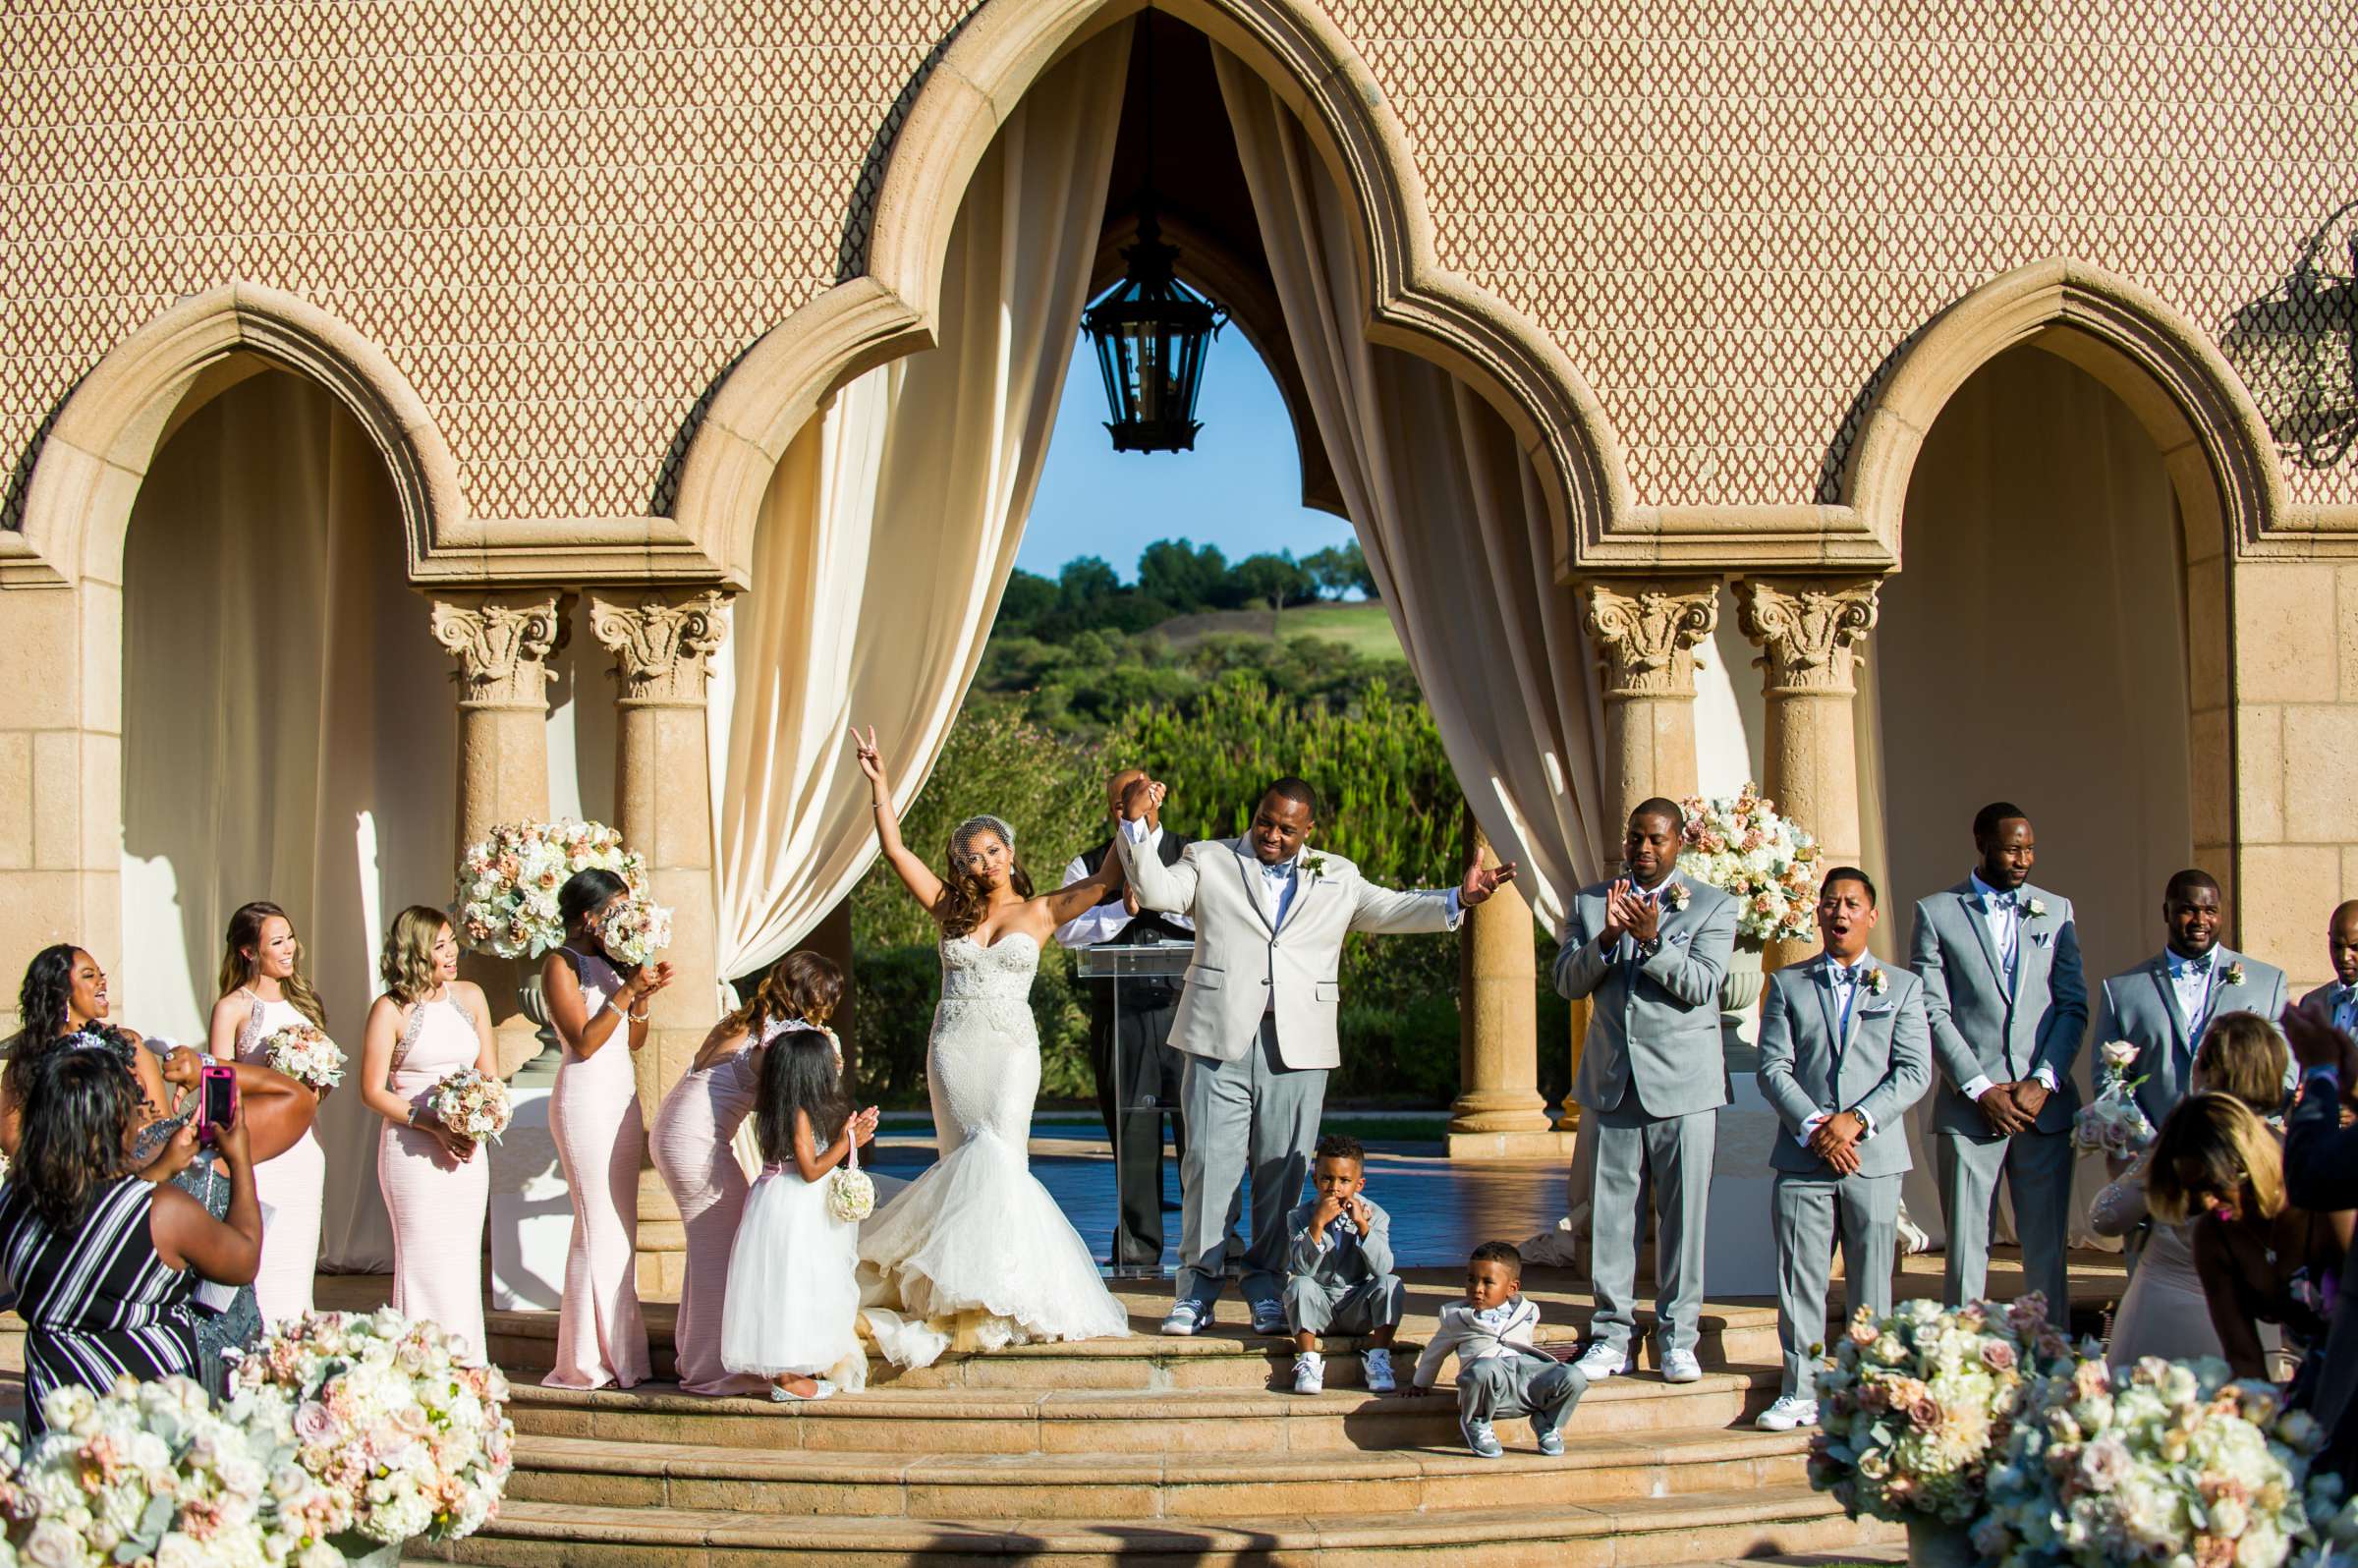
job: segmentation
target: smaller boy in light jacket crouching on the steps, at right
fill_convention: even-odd
[[[1467,1299],[1441,1309],[1441,1330],[1417,1358],[1410,1394],[1434,1386],[1441,1363],[1457,1353],[1457,1431],[1483,1460],[1504,1452],[1493,1422],[1530,1417],[1542,1455],[1563,1452],[1563,1422],[1589,1391],[1589,1379],[1537,1344],[1540,1309],[1523,1294],[1523,1254],[1514,1243],[1486,1240],[1467,1264]]]

